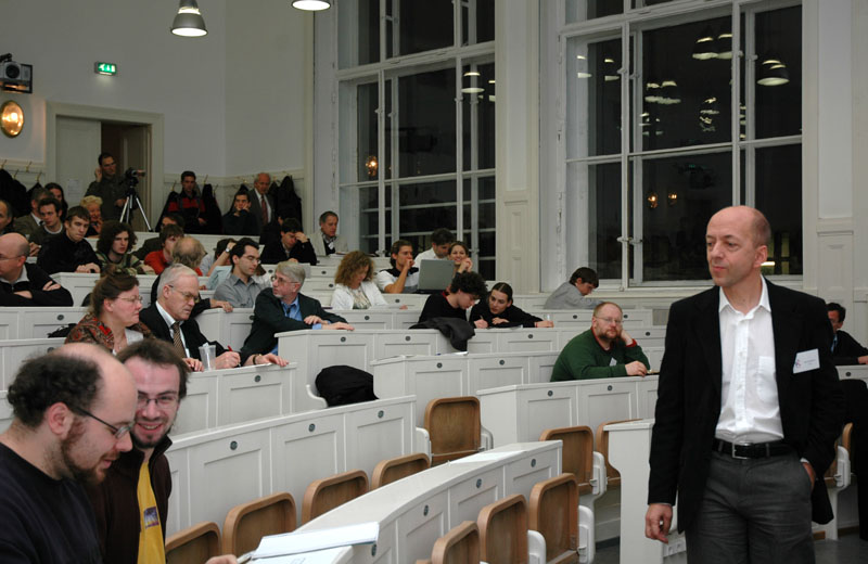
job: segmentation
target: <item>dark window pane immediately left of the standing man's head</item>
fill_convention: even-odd
[[[705,226],[732,202],[730,153],[642,163],[642,278],[706,280]]]

